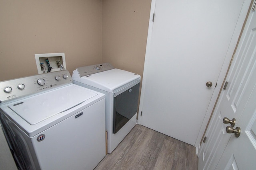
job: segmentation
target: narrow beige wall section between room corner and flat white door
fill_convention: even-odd
[[[151,0],[102,1],[103,62],[142,76]]]

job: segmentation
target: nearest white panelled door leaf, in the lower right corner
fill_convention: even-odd
[[[254,78],[256,74],[254,74]],[[254,84],[255,85],[255,84]],[[230,138],[216,170],[256,169],[256,88],[250,95],[237,127],[241,128],[238,138]],[[228,134],[229,135],[229,134]]]

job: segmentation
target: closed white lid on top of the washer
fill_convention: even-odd
[[[86,88],[70,85],[19,100],[8,107],[30,125],[35,125],[96,95]]]

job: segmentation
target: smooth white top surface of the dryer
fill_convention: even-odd
[[[140,80],[140,75],[114,68],[112,70],[90,74],[81,78],[73,78],[73,81],[74,80],[106,92],[113,92],[115,89],[128,84],[133,80]]]

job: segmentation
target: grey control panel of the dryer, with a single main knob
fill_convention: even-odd
[[[90,66],[83,66],[76,68],[80,77],[88,76],[90,74],[95,74],[98,72],[114,69],[110,63],[102,63]]]

